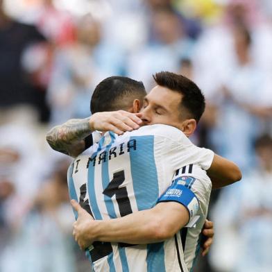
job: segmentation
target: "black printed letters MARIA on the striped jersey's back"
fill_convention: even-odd
[[[116,158],[117,155],[124,155],[126,152],[135,151],[137,149],[136,139],[130,139],[128,142],[119,144],[118,146],[113,146],[109,150],[105,150],[97,155],[93,155],[89,158],[87,162],[87,168],[89,168],[90,163],[95,167],[96,163],[101,164],[101,162],[106,162],[107,160],[112,160]]]

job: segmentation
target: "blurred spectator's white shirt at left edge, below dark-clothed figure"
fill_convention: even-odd
[[[0,127],[0,177],[10,180],[16,194],[25,200],[37,192],[46,169],[36,135],[27,125]]]

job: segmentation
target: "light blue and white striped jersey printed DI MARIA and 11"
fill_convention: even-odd
[[[144,126],[118,137],[106,133],[69,167],[69,195],[94,219],[125,216],[153,207],[177,169],[189,164],[208,169],[213,157],[171,126]],[[180,271],[180,256],[187,271],[176,242],[174,237],[139,246],[94,242],[87,255],[94,271]]]

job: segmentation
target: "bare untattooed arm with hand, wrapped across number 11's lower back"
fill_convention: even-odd
[[[80,205],[72,200],[78,212],[73,235],[80,248],[94,241],[149,244],[173,237],[189,221],[187,208],[176,202],[158,203],[151,210],[134,212],[118,219],[93,220]]]

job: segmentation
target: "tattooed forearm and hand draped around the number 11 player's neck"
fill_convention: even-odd
[[[118,135],[139,128],[142,120],[136,114],[119,110],[117,112],[96,112],[86,119],[71,119],[55,126],[46,134],[46,141],[54,150],[76,157],[85,151],[85,138],[94,130],[111,130]]]

